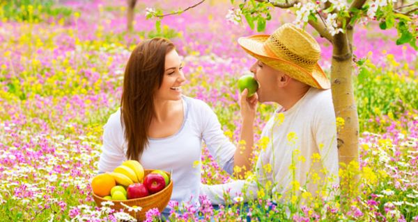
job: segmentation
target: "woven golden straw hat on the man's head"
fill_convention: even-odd
[[[287,23],[272,35],[240,37],[238,44],[268,66],[318,89],[329,89],[330,80],[318,65],[318,42],[301,28]]]

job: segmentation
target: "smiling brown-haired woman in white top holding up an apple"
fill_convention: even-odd
[[[249,169],[256,98],[241,94],[245,130],[241,138],[249,148],[238,151],[221,130],[210,107],[183,96],[186,78],[175,46],[167,39],[144,40],[132,51],[123,80],[121,109],[104,126],[99,171],[113,171],[124,160],[138,160],[145,169],[173,171],[171,200],[199,204],[202,139],[219,167]],[[251,135],[247,138],[246,135]],[[167,213],[164,210],[164,213]]]

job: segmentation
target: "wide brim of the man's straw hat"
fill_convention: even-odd
[[[261,62],[264,62],[274,69],[286,71],[286,74],[300,80],[302,83],[307,83],[318,89],[330,89],[330,80],[318,63],[316,63],[312,71],[308,71],[291,61],[275,56],[265,49],[264,42],[268,37],[270,37],[270,35],[240,37],[238,39],[238,44],[254,58],[261,60]]]

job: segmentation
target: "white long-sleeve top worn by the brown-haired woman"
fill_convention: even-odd
[[[198,99],[183,96],[184,120],[178,133],[149,139],[141,156],[144,169],[173,171],[171,200],[199,204],[202,139],[219,167],[232,171],[235,145],[221,129],[215,112]],[[121,111],[111,114],[104,126],[100,172],[113,171],[127,160],[127,142],[121,125]],[[196,164],[199,163],[199,164]]]

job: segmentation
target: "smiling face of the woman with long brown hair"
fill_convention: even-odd
[[[155,93],[155,99],[181,99],[181,86],[185,83],[183,65],[176,50],[171,50],[165,58],[164,77],[160,89]]]

